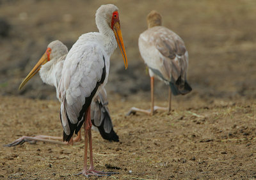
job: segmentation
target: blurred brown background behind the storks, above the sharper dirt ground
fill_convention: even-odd
[[[97,31],[95,11],[107,3],[119,8],[129,64],[125,71],[122,54],[116,49],[106,86],[110,96],[149,98],[150,79],[138,37],[147,29],[147,14],[157,10],[163,25],[179,34],[189,52],[188,82],[193,91],[180,96],[180,101],[256,98],[254,0],[0,0],[0,94],[56,100],[54,87],[43,84],[39,75],[22,91],[18,91],[20,82],[51,41],[60,40],[70,49],[81,34]],[[158,80],[155,91],[158,98],[168,96],[168,87]]]

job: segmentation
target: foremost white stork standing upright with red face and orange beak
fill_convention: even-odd
[[[93,166],[92,121],[90,105],[105,86],[109,73],[109,58],[119,46],[124,58],[127,57],[120,29],[118,8],[113,4],[100,6],[96,12],[99,33],[86,33],[79,37],[67,54],[58,86],[63,126],[63,140],[68,141],[73,133],[78,133],[84,124],[84,176],[109,176],[110,172],[100,172]],[[90,168],[87,169],[87,147],[90,147]]]

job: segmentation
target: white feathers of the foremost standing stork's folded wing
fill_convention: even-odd
[[[72,124],[77,123],[86,97],[91,95],[97,82],[102,78],[105,63],[103,57],[108,58],[104,50],[92,44],[83,45],[83,49],[80,47],[80,50],[73,54],[68,53],[63,65],[61,83],[65,80],[65,108]]]

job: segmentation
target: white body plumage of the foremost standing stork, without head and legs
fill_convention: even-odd
[[[115,36],[113,38],[115,40]],[[90,97],[97,82],[100,82],[104,66],[106,77],[99,89],[108,81],[109,56],[100,45],[103,40],[100,33],[83,34],[70,49],[63,65],[59,91],[62,100],[61,120],[67,135],[70,134],[67,116],[72,124],[78,123],[85,98]]]

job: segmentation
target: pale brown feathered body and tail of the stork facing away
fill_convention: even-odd
[[[140,34],[139,48],[148,68],[170,84],[173,94],[191,91],[186,82],[188,51],[180,36],[166,27],[155,26]]]

